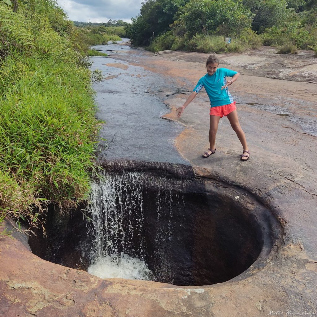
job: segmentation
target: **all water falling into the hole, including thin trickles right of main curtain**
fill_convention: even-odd
[[[175,205],[181,204],[182,207],[184,204],[184,199],[172,193],[172,186],[165,178],[162,179],[123,171],[120,174],[104,172],[100,179],[94,181],[89,211],[92,219],[90,229],[95,240],[89,273],[101,278],[153,280],[152,272],[144,261],[144,196],[148,196],[144,183],[155,184],[157,190],[151,207],[155,206],[151,214],[157,219],[153,256],[159,258],[160,245],[173,238],[173,210]]]

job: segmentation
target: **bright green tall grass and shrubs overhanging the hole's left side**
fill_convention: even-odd
[[[85,34],[55,1],[0,2],[0,222],[36,223],[48,202],[87,198],[95,118]],[[17,222],[19,224],[19,222]]]

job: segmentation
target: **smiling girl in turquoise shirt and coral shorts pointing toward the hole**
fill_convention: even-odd
[[[204,152],[203,158],[208,158],[216,152],[216,133],[220,118],[226,116],[229,119],[232,129],[236,132],[242,146],[243,154],[240,155],[241,160],[249,159],[250,151],[247,145],[244,132],[239,124],[236,111],[236,102],[228,90],[228,86],[232,85],[238,77],[239,73],[227,68],[218,68],[219,58],[216,54],[209,55],[206,61],[207,74],[200,78],[193,92],[185,101],[184,105],[177,108],[178,118],[183,113],[184,109],[194,100],[199,91],[204,87],[210,99],[210,125],[209,125],[209,143],[210,148]],[[226,80],[226,77],[232,77],[231,80]]]

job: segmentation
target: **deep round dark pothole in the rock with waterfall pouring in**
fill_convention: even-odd
[[[51,208],[47,237],[29,240],[33,253],[102,278],[194,286],[248,275],[274,252],[280,226],[271,212],[189,166],[117,162],[101,176],[87,217]]]

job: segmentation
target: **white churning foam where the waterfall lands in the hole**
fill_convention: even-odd
[[[146,263],[127,254],[106,255],[90,265],[88,273],[100,278],[125,278],[129,280],[152,280],[152,272]]]

